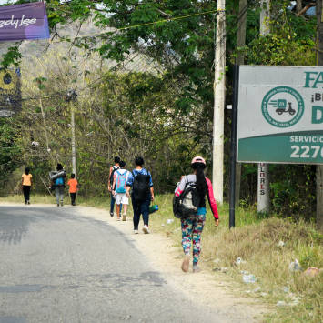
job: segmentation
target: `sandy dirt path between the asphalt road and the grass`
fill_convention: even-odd
[[[13,203],[0,203],[1,205],[14,205]],[[19,204],[20,205],[20,204]],[[35,206],[35,205],[34,205]],[[39,207],[44,205],[38,205]],[[66,206],[66,208],[69,206]],[[163,276],[168,284],[176,288],[179,295],[194,299],[200,306],[216,310],[219,313],[217,322],[262,322],[263,314],[268,309],[258,305],[251,298],[235,297],[229,290],[230,285],[218,280],[207,271],[193,274],[191,271],[184,273],[180,269],[182,254],[178,248],[172,247],[174,241],[152,231],[145,235],[139,230],[138,235],[133,234],[133,223],[131,217],[126,222],[116,221],[116,217],[110,217],[104,209],[95,207],[74,207],[77,213],[84,217],[93,217],[97,220],[107,222],[116,227],[127,237],[135,241],[136,247],[150,261],[152,266]],[[223,318],[223,320],[221,319]]]

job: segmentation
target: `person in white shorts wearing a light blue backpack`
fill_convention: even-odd
[[[112,185],[112,194],[116,198],[116,220],[120,221],[120,205],[124,206],[122,220],[126,221],[126,210],[129,204],[129,198],[126,197],[126,181],[129,177],[129,172],[126,170],[126,162],[120,162],[120,168],[114,173],[114,181]]]

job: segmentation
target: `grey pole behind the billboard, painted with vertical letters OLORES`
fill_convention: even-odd
[[[270,32],[269,25],[270,0],[260,0],[260,35],[265,36]],[[258,164],[257,178],[257,211],[259,213],[270,213],[270,165]]]

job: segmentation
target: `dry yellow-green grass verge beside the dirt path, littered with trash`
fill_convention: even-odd
[[[166,236],[167,232],[171,232],[173,247],[181,250],[180,221],[173,216],[172,197],[156,197],[159,211],[151,215],[149,227]],[[0,201],[23,202],[23,197],[5,197]],[[55,197],[32,196],[31,201],[56,203]],[[77,204],[109,209],[110,200],[78,198]],[[220,226],[214,227],[213,217],[207,212],[200,266],[212,272],[215,279],[231,281],[235,294],[256,298],[273,306],[272,314],[267,317],[269,322],[323,322],[323,273],[308,278],[301,272],[288,271],[289,263],[295,258],[305,269],[323,267],[323,236],[309,224],[291,223],[279,217],[262,218],[255,209],[237,209],[236,228],[232,230],[228,229],[227,205],[219,207],[219,215]],[[174,222],[167,224],[167,219],[174,219]],[[278,247],[280,240],[286,246]],[[237,267],[237,257],[247,263]],[[227,273],[213,272],[216,267],[227,267]],[[242,270],[255,275],[257,282],[243,283]],[[276,307],[278,301],[285,301],[287,305]]]

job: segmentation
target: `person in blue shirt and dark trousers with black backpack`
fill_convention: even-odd
[[[149,205],[154,200],[154,187],[150,173],[143,168],[144,158],[136,157],[136,168],[129,174],[126,181],[126,197],[130,198],[130,187],[133,187],[131,194],[132,207],[134,208],[134,234],[139,233],[138,226],[140,215],[143,215],[144,233],[149,233]]]

